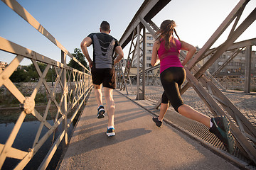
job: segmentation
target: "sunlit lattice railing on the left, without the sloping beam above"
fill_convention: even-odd
[[[21,159],[21,162],[16,166],[16,169],[23,169],[23,167],[26,166],[26,164],[28,164],[28,162],[31,160],[33,155],[36,154],[36,152],[38,152],[38,149],[40,149],[41,146],[44,144],[44,142],[46,142],[48,137],[50,137],[50,135],[56,130],[56,128],[58,128],[58,125],[60,125],[60,123],[63,122],[63,120],[67,121],[67,115],[70,113],[71,109],[75,108],[75,106],[79,105],[78,108],[76,109],[75,113],[73,113],[72,118],[70,119],[70,123],[73,122],[75,115],[77,115],[79,109],[82,106],[82,103],[85,102],[85,98],[88,95],[90,89],[92,89],[92,84],[90,81],[91,76],[90,76],[90,74],[87,74],[85,72],[80,72],[79,70],[65,66],[65,64],[51,60],[50,58],[40,55],[37,52],[33,52],[32,50],[22,47],[21,45],[16,45],[14,42],[10,42],[4,38],[0,38],[0,50],[4,50],[6,52],[10,52],[10,53],[17,55],[14,58],[14,60],[11,62],[11,64],[9,64],[9,66],[6,67],[6,69],[4,69],[4,71],[2,71],[0,73],[0,86],[4,85],[6,87],[6,89],[8,89],[11,92],[11,94],[13,94],[15,96],[15,98],[17,98],[18,101],[20,101],[21,106],[22,106],[21,107],[22,108],[21,115],[19,116],[18,120],[16,121],[16,125],[14,126],[14,129],[11,132],[9,139],[6,141],[5,145],[0,144],[0,153],[1,153],[0,154],[0,168],[1,168],[1,166],[3,166],[6,157],[12,157],[12,158],[16,158],[16,159]],[[16,88],[16,86],[14,85],[14,83],[11,82],[11,80],[9,79],[9,77],[11,77],[11,74],[18,67],[18,64],[25,57],[30,59],[33,62],[33,64],[37,68],[36,71],[39,74],[38,83],[37,83],[36,88],[34,89],[33,93],[31,94],[31,96],[23,96],[21,91],[19,91]],[[43,73],[39,69],[36,61],[44,62],[47,64],[47,67]],[[46,83],[46,80],[44,79],[46,77],[46,74],[48,73],[50,67],[55,68],[55,72],[58,77],[55,80],[55,86],[54,86],[53,90],[50,90],[50,87],[48,86],[48,84]],[[63,83],[61,83],[61,81],[60,81],[60,79],[63,79],[62,78],[63,70],[66,70],[69,73],[68,75],[70,75],[71,73],[76,74],[77,77],[79,77],[79,80],[73,79],[71,81],[69,78],[68,79],[69,84],[66,84],[66,86],[64,86]],[[60,85],[62,88],[62,91],[63,91],[60,103],[58,103],[55,98],[57,85]],[[36,108],[35,108],[36,103],[34,101],[40,86],[45,86],[48,96],[50,96],[50,98],[48,98],[48,104],[46,107],[45,115],[43,115],[43,116],[40,113],[38,113],[38,111],[36,110]],[[73,98],[70,98],[70,96],[73,96]],[[65,100],[68,100],[68,101],[65,102]],[[81,101],[81,102],[78,103],[78,101]],[[56,115],[54,125],[50,125],[46,121],[46,116],[48,115],[49,106],[50,106],[50,103],[52,103],[52,102],[54,103],[56,108],[58,108],[58,113]],[[31,106],[31,103],[32,103],[32,106]],[[63,106],[63,104],[66,106],[66,108],[68,108],[67,111],[63,111],[63,109],[61,107],[61,106]],[[59,113],[61,115],[60,118],[58,118]],[[11,146],[14,143],[14,140],[16,138],[18,130],[21,128],[24,118],[28,114],[31,114],[35,118],[37,118],[41,122],[42,128],[43,128],[43,126],[46,126],[46,128],[48,128],[48,132],[45,135],[43,135],[43,137],[41,137],[41,139],[39,139],[39,136],[41,135],[41,128],[39,128],[33,147],[31,147],[31,149],[29,149],[28,152],[23,152],[19,149],[11,147]],[[68,123],[66,125],[66,128],[65,128],[66,130],[70,127],[70,123]],[[63,140],[63,137],[65,137],[65,135],[63,135],[63,133],[66,133],[66,130],[63,130],[61,135],[57,138],[59,141]],[[48,163],[50,162],[51,157],[53,157],[53,154],[55,153],[55,150],[53,152],[53,149],[57,148],[59,144],[60,143],[55,143],[52,146],[52,149],[50,149],[50,151],[49,151],[50,157],[48,157],[46,159],[46,162],[42,162],[42,164],[41,164],[43,169],[46,169]],[[21,156],[21,157],[16,156],[15,153],[17,153],[17,152],[23,156]]]

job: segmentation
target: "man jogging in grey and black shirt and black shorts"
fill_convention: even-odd
[[[102,21],[100,24],[100,33],[91,33],[81,42],[82,53],[89,62],[92,69],[92,84],[97,101],[97,118],[104,118],[105,108],[102,105],[102,84],[106,99],[106,109],[108,115],[107,136],[114,136],[114,99],[113,89],[115,89],[115,71],[114,64],[117,64],[124,52],[117,39],[110,34],[110,24]],[[93,60],[91,60],[87,47],[93,46]],[[114,52],[117,57],[114,59]]]

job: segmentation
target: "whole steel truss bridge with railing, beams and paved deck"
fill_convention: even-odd
[[[249,1],[240,0],[238,2],[223,23],[220,24],[218,29],[215,30],[213,35],[208,39],[206,44],[196,53],[191,62],[186,65],[187,82],[181,89],[181,94],[183,95],[186,94],[186,91],[191,91],[191,89],[196,91],[196,94],[198,94],[201,101],[208,108],[208,112],[211,116],[226,115],[230,119],[231,131],[236,140],[236,148],[233,155],[228,154],[225,149],[223,149],[220,142],[208,134],[206,127],[201,127],[201,125],[193,121],[181,118],[174,111],[169,111],[169,116],[166,116],[164,127],[161,130],[154,127],[154,124],[152,125],[151,123],[151,115],[157,115],[159,112],[160,100],[156,98],[156,101],[152,101],[148,100],[149,97],[146,97],[146,77],[148,72],[154,69],[156,70],[156,74],[153,79],[157,79],[159,66],[145,69],[146,43],[144,42],[146,40],[146,30],[154,36],[156,30],[159,29],[156,24],[151,21],[151,18],[156,16],[170,1],[144,1],[134,15],[134,18],[132,18],[129,26],[124,31],[122,38],[119,40],[123,48],[128,44],[130,44],[130,47],[127,60],[122,60],[122,62],[116,66],[117,90],[114,91],[114,98],[117,107],[116,121],[118,128],[117,137],[110,140],[103,137],[103,133],[99,131],[103,130],[103,125],[106,124],[106,120],[98,121],[94,118],[95,114],[92,112],[96,110],[95,108],[97,108],[97,106],[94,101],[93,93],[91,93],[92,81],[90,70],[70,54],[70,52],[68,52],[46,28],[38,23],[36,18],[33,18],[23,6],[18,4],[17,1],[2,1],[6,6],[9,6],[9,8],[18,13],[21,18],[33,26],[33,28],[36,28],[36,30],[48,38],[50,42],[53,42],[55,46],[60,48],[61,62],[50,59],[38,52],[0,37],[0,50],[16,55],[14,60],[12,60],[4,70],[0,70],[0,84],[18,100],[21,109],[13,129],[9,136],[6,137],[6,142],[0,144],[1,168],[3,168],[4,164],[10,159],[15,159],[18,161],[16,161],[14,169],[24,169],[29,162],[31,162],[33,157],[36,157],[46,141],[59,129],[62,129],[61,132],[54,138],[48,148],[46,157],[43,158],[38,169],[46,169],[48,167],[57,148],[61,145],[64,147],[68,146],[68,150],[65,152],[60,169],[69,169],[68,167],[77,167],[77,169],[86,169],[86,167],[90,167],[89,169],[97,169],[97,167],[100,167],[103,169],[103,165],[110,169],[113,164],[114,169],[144,169],[146,167],[157,169],[158,166],[161,165],[163,165],[162,169],[191,169],[191,167],[204,169],[206,165],[210,166],[209,164],[211,164],[211,166],[225,167],[225,169],[234,168],[232,164],[227,164],[225,161],[223,162],[223,159],[220,159],[220,157],[215,156],[213,153],[225,157],[225,159],[238,165],[238,167],[247,168],[250,164],[256,163],[255,120],[240,111],[233,101],[227,97],[227,94],[224,93],[221,85],[215,79],[214,74],[207,72],[207,69],[223,52],[233,52],[232,57],[230,57],[230,60],[232,60],[243,50],[247,60],[245,63],[245,86],[242,96],[252,95],[250,94],[252,81],[250,66],[252,64],[252,46],[256,44],[256,39],[252,38],[242,42],[235,42],[256,19],[256,8],[254,8],[244,21],[240,21],[240,16]],[[211,49],[210,47],[212,47],[229,26],[231,26],[231,30],[227,40],[219,47]],[[181,60],[184,56],[185,55],[181,52]],[[80,67],[82,67],[82,71],[69,67],[66,57],[70,57],[77,62]],[[130,77],[130,69],[132,61],[134,61],[136,57],[137,80],[141,81],[136,82],[136,90],[134,90],[132,88],[133,82]],[[10,79],[11,74],[14,73],[24,58],[31,60],[39,76],[36,86],[34,86],[33,91],[28,96],[21,92],[21,90],[17,88],[17,85]],[[208,60],[203,65],[198,64],[205,58],[208,58]],[[223,63],[223,66],[220,67],[219,70],[223,69],[230,60]],[[39,63],[46,64],[46,68],[41,70]],[[48,72],[55,72],[56,75],[52,87],[50,87],[46,81]],[[38,103],[35,102],[35,98],[41,86],[44,86],[47,94],[47,105],[45,110],[40,113],[38,112]],[[58,86],[60,86],[61,91],[60,98],[57,98],[56,95]],[[252,100],[255,101],[255,98],[252,97]],[[85,109],[82,110],[84,105]],[[56,108],[53,123],[47,121],[51,106]],[[75,132],[73,135],[72,133],[68,135],[68,131],[79,113],[81,113],[80,119],[75,128]],[[31,146],[27,149],[19,149],[15,147],[14,142],[23,123],[25,123],[25,118],[28,116],[36,118],[36,120],[40,122],[40,125],[38,126]],[[184,123],[188,126],[184,127]],[[193,128],[190,129],[190,125]],[[187,135],[190,137],[187,137]],[[160,145],[164,145],[164,147],[157,146],[158,142],[162,142]],[[199,145],[198,142],[213,151],[213,153]],[[72,152],[72,149],[77,152]],[[114,162],[114,160],[112,162],[112,159],[102,157],[104,154],[110,154],[108,149],[112,149],[112,154],[114,154],[114,158],[117,162]],[[173,149],[176,154],[169,152],[169,149]],[[157,152],[157,150],[160,150],[160,152]],[[186,155],[186,152],[194,157]],[[160,154],[166,157],[160,157]],[[204,159],[202,159],[202,154]],[[176,157],[174,157],[175,155]],[[90,162],[86,162],[85,164],[85,160],[82,160],[80,156],[90,158]],[[93,161],[92,157],[96,156],[102,157],[101,161],[104,162],[104,164],[99,162],[99,160]],[[175,162],[171,163],[168,157],[174,159]],[[210,157],[214,157],[218,162],[213,162]],[[132,158],[134,158],[134,160],[132,160]],[[157,162],[158,158],[161,158],[162,162],[154,164],[154,162]],[[193,161],[189,161],[191,159]],[[118,160],[120,160],[119,164]],[[102,165],[100,165],[100,163],[102,163]]]

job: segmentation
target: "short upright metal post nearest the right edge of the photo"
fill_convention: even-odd
[[[247,46],[245,50],[245,93],[250,93],[252,64],[252,46]]]

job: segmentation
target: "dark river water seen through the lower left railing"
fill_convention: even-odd
[[[75,118],[73,123],[70,125],[70,128],[68,129],[68,140],[70,140],[70,136],[73,133],[75,124],[77,123],[79,116],[80,115],[77,115],[77,118]],[[53,120],[48,120],[48,123],[50,123],[50,125],[53,125]],[[11,130],[13,130],[14,125],[15,125],[14,123],[0,124],[0,143],[1,144],[6,143],[6,140],[11,134]],[[36,132],[38,131],[39,126],[40,126],[39,121],[24,122],[21,125],[21,129],[18,131],[18,135],[12,147],[28,152],[28,149],[32,148],[33,146],[33,140],[36,137]],[[43,144],[41,149],[38,150],[38,152],[34,155],[33,159],[31,159],[31,161],[26,165],[24,169],[38,169],[38,166],[40,166],[44,157],[46,157],[46,154],[50,149],[51,145],[55,142],[55,139],[58,137],[58,135],[60,135],[60,132],[63,129],[62,127],[63,125],[61,123],[58,126],[58,129],[52,135],[50,135],[48,140]],[[46,134],[46,132],[48,132],[48,129],[46,127],[43,127],[43,130],[41,132],[41,137],[43,137],[43,135]],[[58,162],[63,153],[63,146],[65,147],[63,142],[60,143],[47,169],[55,169],[58,166]],[[18,162],[20,162],[20,160],[7,158],[6,161],[4,162],[4,165],[2,166],[2,169],[14,169],[18,164]]]

